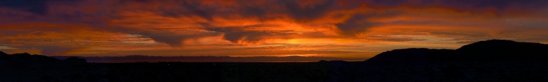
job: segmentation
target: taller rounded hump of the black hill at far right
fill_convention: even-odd
[[[475,61],[546,61],[548,44],[486,40],[457,49],[461,59]]]

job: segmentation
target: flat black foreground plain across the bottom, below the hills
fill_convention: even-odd
[[[324,63],[128,63],[0,68],[0,81],[548,81],[548,66]]]

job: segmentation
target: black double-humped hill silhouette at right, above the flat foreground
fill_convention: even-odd
[[[467,44],[457,50],[396,49],[365,61],[372,65],[431,64],[545,64],[548,44],[486,40]]]

